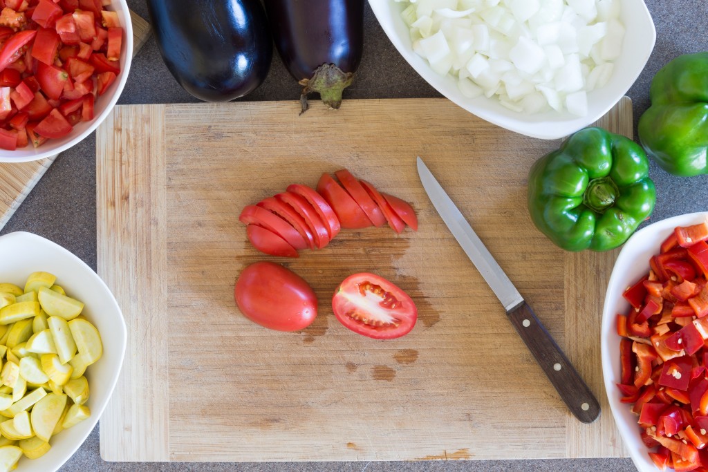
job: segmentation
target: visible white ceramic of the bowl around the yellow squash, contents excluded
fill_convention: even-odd
[[[24,287],[32,272],[56,275],[57,284],[64,287],[69,296],[84,302],[81,314],[98,328],[103,340],[103,356],[86,369],[91,391],[86,405],[91,416],[52,437],[52,449],[39,459],[22,456],[16,469],[17,472],[54,472],[79,449],[105,410],[125,355],[125,322],[113,294],[96,272],[52,241],[24,232],[0,236],[0,260],[0,282]]]

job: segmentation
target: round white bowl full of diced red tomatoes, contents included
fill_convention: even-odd
[[[0,161],[69,149],[108,116],[125,86],[125,0],[0,1]]]

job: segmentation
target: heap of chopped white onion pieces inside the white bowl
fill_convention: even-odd
[[[518,113],[587,115],[622,50],[621,0],[395,1],[433,71]]]

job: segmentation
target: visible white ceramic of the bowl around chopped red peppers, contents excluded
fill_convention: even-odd
[[[603,307],[600,351],[603,357],[603,379],[605,392],[610,401],[610,409],[617,423],[619,434],[629,449],[634,465],[640,472],[655,472],[657,469],[649,459],[649,449],[641,442],[641,431],[636,424],[637,417],[629,411],[627,403],[619,403],[621,397],[616,384],[620,383],[619,335],[617,335],[617,313],[627,313],[629,303],[622,298],[622,292],[649,272],[649,259],[659,253],[659,246],[668,238],[676,226],[690,226],[705,221],[706,213],[683,214],[664,219],[636,231],[617,257],[607,285],[605,306]]]

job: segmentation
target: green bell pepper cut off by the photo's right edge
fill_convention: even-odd
[[[674,175],[708,173],[708,52],[684,54],[651,81],[651,107],[639,119],[639,141]]]

